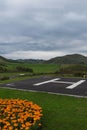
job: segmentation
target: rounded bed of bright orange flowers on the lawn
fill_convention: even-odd
[[[42,108],[20,99],[0,99],[0,130],[41,129]]]

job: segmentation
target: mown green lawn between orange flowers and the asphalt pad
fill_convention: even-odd
[[[87,130],[87,99],[0,88],[0,98],[33,101],[43,109],[43,130]]]

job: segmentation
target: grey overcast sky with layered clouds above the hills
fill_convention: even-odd
[[[0,0],[0,55],[87,56],[87,0]]]

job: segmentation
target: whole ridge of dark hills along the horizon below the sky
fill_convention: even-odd
[[[69,54],[65,56],[54,57],[49,60],[35,59],[6,59],[0,56],[0,63],[6,62],[25,62],[25,63],[47,63],[47,64],[87,64],[87,57],[81,54]]]

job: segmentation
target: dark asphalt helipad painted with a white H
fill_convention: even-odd
[[[3,87],[51,92],[56,94],[87,96],[87,80],[43,76],[4,84]]]

